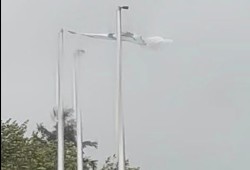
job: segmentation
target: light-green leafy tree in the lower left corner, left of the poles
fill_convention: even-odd
[[[11,119],[1,121],[1,169],[3,170],[52,170],[55,145],[33,133],[25,137],[27,121],[18,124]]]

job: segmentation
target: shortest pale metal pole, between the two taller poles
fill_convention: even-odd
[[[74,111],[76,114],[77,121],[77,170],[83,170],[83,155],[82,155],[82,117],[81,112],[78,107],[78,58],[81,53],[84,53],[84,50],[77,50],[74,55],[74,66],[73,66],[73,93],[74,93]]]

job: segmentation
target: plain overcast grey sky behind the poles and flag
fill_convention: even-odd
[[[2,0],[2,119],[29,119],[30,131],[39,122],[51,127],[58,31],[114,32],[118,4],[130,6],[124,31],[174,39],[160,50],[124,43],[131,163],[143,170],[250,169],[248,0]],[[88,154],[103,162],[115,152],[115,42],[65,40],[68,59],[79,47],[87,51],[84,139],[98,141]]]

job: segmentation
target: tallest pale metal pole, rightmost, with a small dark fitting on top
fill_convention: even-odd
[[[128,7],[127,6],[118,7],[117,10],[116,140],[117,140],[118,170],[125,170],[125,139],[124,139],[124,120],[122,113],[122,40],[121,40],[122,9],[128,9]]]

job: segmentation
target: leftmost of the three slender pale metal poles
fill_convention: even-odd
[[[62,64],[61,60],[63,57],[63,48],[64,48],[64,37],[63,37],[63,29],[60,31],[59,34],[59,55],[57,58],[57,105],[58,105],[58,111],[57,111],[57,117],[58,117],[58,123],[57,123],[57,170],[64,170],[64,120],[63,120],[63,99],[62,99],[62,77],[61,77],[61,71],[62,71]]]

